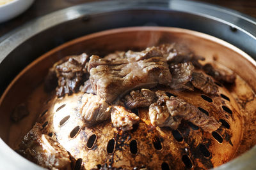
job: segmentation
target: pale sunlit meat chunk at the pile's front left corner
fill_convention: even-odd
[[[93,94],[83,94],[79,112],[84,118],[84,125],[91,127],[110,118],[110,106],[104,99]]]

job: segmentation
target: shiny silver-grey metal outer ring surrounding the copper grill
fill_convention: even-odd
[[[0,39],[0,94],[32,60],[65,41],[92,32],[139,25],[204,32],[256,58],[256,20],[235,11],[187,1],[88,3],[45,15]],[[0,115],[4,118],[4,113]],[[20,157],[1,139],[0,155],[3,169],[42,169]],[[255,147],[218,169],[255,169],[254,157]]]

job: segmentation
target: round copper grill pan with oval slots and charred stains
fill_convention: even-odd
[[[120,43],[120,39],[125,41]],[[216,82],[220,89],[216,97],[205,96],[199,91],[162,89],[183,97],[220,121],[220,129],[212,134],[185,123],[177,130],[148,127],[147,110],[138,110],[145,122],[140,122],[131,133],[119,134],[111,127],[111,122],[93,129],[86,128],[76,112],[76,101],[81,94],[56,98],[45,94],[40,85],[51,63],[66,55],[82,52],[104,55],[115,50],[143,49],[173,42],[189,46],[196,55],[204,56],[205,62],[232,69],[238,75],[236,84],[227,89]],[[248,74],[243,74],[243,67],[246,67]],[[11,125],[8,144],[16,149],[20,139],[37,121],[44,127],[44,134],[51,134],[51,138],[57,139],[79,160],[81,166],[88,169],[104,164],[127,169],[147,166],[152,169],[217,167],[255,145],[254,131],[251,131],[255,127],[251,121],[255,117],[255,85],[253,81],[248,81],[255,76],[253,73],[255,65],[246,53],[225,41],[195,31],[170,27],[130,27],[90,34],[45,53],[26,67],[8,87],[1,101],[1,106],[4,106],[1,110],[10,113],[25,99],[30,112],[19,124]],[[29,80],[33,82],[30,81],[28,86]],[[36,85],[39,86],[31,93],[31,87]]]

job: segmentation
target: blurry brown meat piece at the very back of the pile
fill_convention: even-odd
[[[163,44],[156,47],[160,50],[166,60],[170,64],[179,64],[182,62],[192,62],[195,67],[201,68],[202,64],[198,60],[205,60],[204,57],[195,55],[189,48],[185,45],[180,45],[176,43]]]

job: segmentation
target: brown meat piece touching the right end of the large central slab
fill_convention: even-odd
[[[194,66],[191,62],[184,62],[180,64],[173,64],[170,66],[170,71],[172,74],[172,89],[191,89],[191,86],[188,86],[189,81],[192,79],[192,73],[194,71]]]

